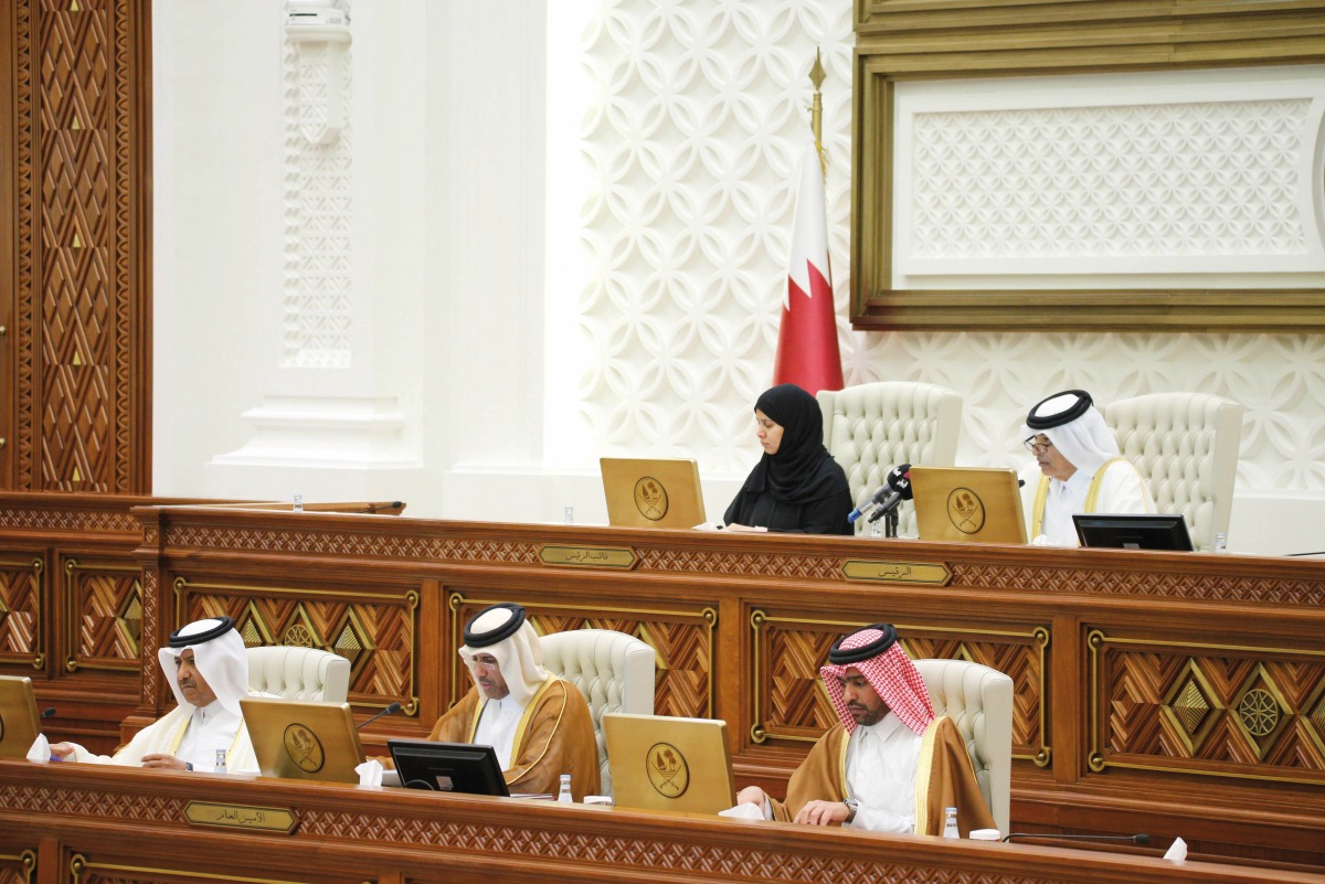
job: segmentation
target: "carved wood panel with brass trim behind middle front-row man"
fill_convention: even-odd
[[[449,701],[454,704],[473,687],[460,656],[454,652],[464,644],[461,630],[465,622],[494,602],[517,602],[529,611],[530,622],[539,635],[575,629],[610,629],[633,635],[648,643],[656,654],[653,712],[685,719],[713,716],[713,631],[717,609],[712,605],[692,605],[666,610],[662,606],[637,605],[632,601],[596,599],[588,603],[558,605],[539,599],[489,597],[490,593],[452,593],[448,606],[452,618],[450,644],[445,654],[450,658]]]

